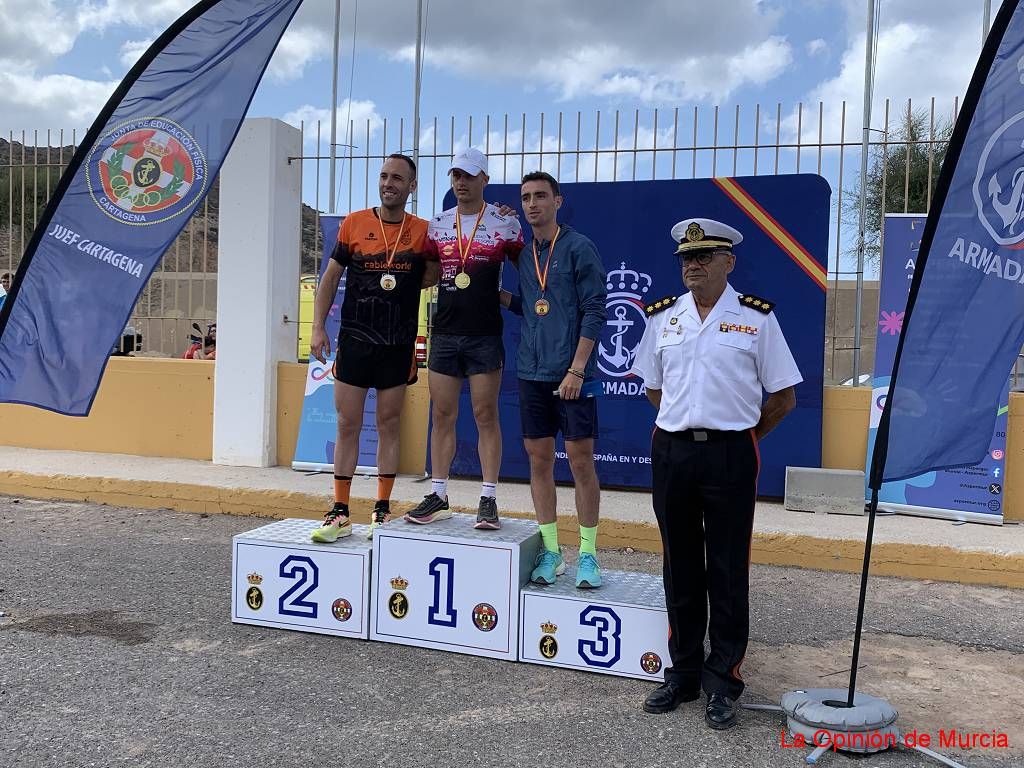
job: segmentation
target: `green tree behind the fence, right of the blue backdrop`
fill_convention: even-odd
[[[926,111],[904,113],[901,121],[889,131],[888,141],[871,147],[864,221],[866,264],[878,266],[880,263],[885,214],[928,211],[951,133],[951,121],[935,125],[933,135]],[[852,227],[847,231],[854,233],[852,246],[846,253],[853,259],[857,257],[856,232],[860,226],[859,178],[857,182],[852,189],[843,193],[843,222],[845,226]]]

